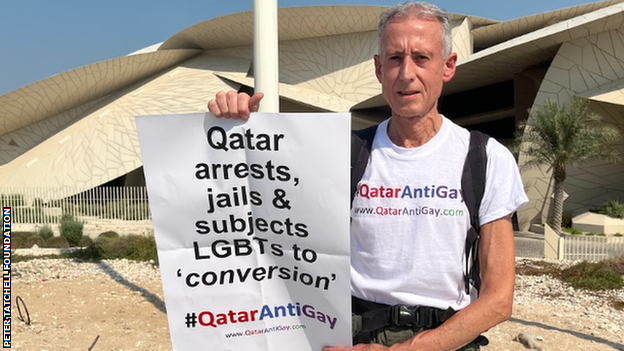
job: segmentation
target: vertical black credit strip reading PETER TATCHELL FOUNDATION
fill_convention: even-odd
[[[4,260],[2,264],[2,347],[11,348],[11,208],[2,208]]]

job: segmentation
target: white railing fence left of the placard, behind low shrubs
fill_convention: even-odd
[[[151,219],[145,187],[0,187],[0,206],[11,207],[16,224],[58,224],[67,214],[85,223]]]

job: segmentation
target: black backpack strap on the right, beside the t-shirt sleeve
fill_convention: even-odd
[[[464,162],[462,173],[462,194],[470,214],[470,229],[466,234],[466,269],[464,284],[466,293],[470,293],[470,285],[479,292],[481,288],[481,272],[479,265],[479,208],[485,192],[485,172],[487,169],[487,153],[485,146],[489,136],[479,131],[470,132],[470,146]]]

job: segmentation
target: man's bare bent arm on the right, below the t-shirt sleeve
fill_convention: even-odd
[[[327,347],[324,351],[450,351],[470,343],[481,333],[506,321],[512,312],[515,281],[515,244],[511,214],[481,226],[479,250],[482,279],[479,298],[441,326],[424,331],[390,348],[360,344],[353,348]]]

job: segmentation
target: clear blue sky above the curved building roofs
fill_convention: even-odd
[[[402,0],[278,0],[279,7],[394,5]],[[439,0],[449,12],[499,21],[588,3],[583,0]],[[161,42],[214,17],[251,10],[253,0],[13,0],[0,3],[0,95],[37,80]]]

